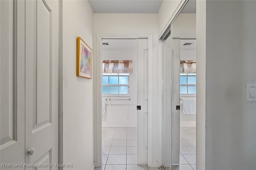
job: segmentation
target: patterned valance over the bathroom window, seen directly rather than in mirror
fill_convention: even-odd
[[[132,73],[132,60],[103,60],[102,73]]]

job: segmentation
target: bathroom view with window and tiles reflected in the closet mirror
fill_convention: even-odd
[[[196,39],[173,39],[180,50],[180,166],[196,169]],[[175,129],[174,129],[175,130]],[[192,169],[191,169],[192,170]]]

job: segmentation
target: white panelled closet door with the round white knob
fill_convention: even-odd
[[[25,17],[25,162],[55,164],[58,163],[58,1],[26,0]]]

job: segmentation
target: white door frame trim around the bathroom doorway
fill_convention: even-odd
[[[153,35],[152,34],[97,34],[96,39],[96,61],[94,66],[94,164],[95,167],[102,166],[102,39],[111,38],[147,38],[148,39],[148,65],[153,61]],[[95,58],[94,58],[95,59]],[[148,82],[153,81],[153,70],[148,70]],[[153,150],[153,86],[148,83],[148,166],[152,166]]]

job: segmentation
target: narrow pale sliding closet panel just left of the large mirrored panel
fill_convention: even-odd
[[[171,36],[169,35],[163,40],[162,46],[162,76],[163,76],[163,149],[162,149],[162,165],[170,167],[171,164],[171,111],[172,111],[172,98],[171,98],[171,78],[172,78],[172,50],[171,50]]]

